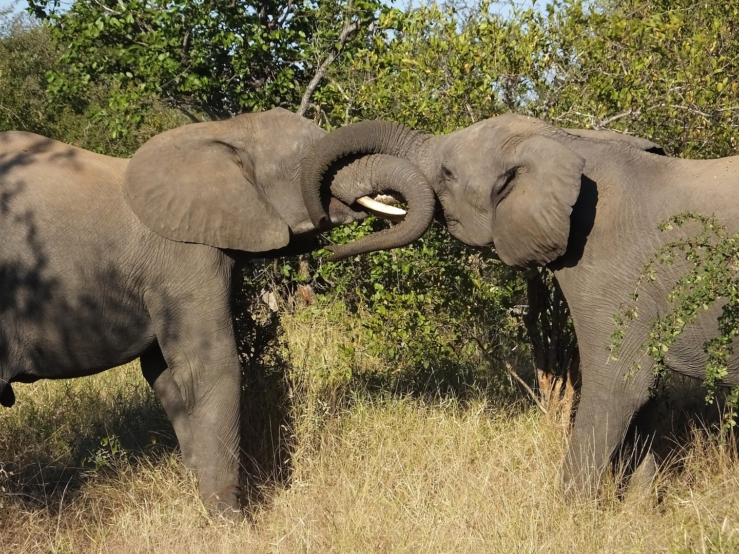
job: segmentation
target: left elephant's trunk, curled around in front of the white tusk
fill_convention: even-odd
[[[435,208],[434,191],[418,166],[386,154],[370,156],[367,161],[364,178],[369,180],[372,191],[402,194],[408,203],[408,213],[402,222],[392,228],[364,236],[355,242],[327,247],[326,250],[333,252],[330,261],[401,247],[418,239],[431,225]]]

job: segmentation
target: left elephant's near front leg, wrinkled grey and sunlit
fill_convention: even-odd
[[[215,308],[208,305],[209,299],[152,315],[168,371],[189,414],[202,498],[219,512],[240,508],[241,368],[228,302],[219,302],[222,295],[223,291],[211,295]]]

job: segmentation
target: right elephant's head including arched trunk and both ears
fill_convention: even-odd
[[[440,137],[385,121],[355,123],[339,131],[327,136],[326,141],[333,135],[336,143],[316,154],[315,165],[324,167],[347,151],[380,151],[411,160],[434,188],[449,231],[467,244],[494,244],[500,259],[515,267],[548,264],[568,247],[570,216],[585,167],[585,160],[568,147],[575,137],[664,153],[638,137],[568,131],[517,114]],[[320,173],[312,163],[304,165],[306,170]],[[304,179],[302,185],[311,218],[327,218],[315,183]]]

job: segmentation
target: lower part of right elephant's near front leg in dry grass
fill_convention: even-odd
[[[594,366],[588,367],[585,357],[582,361],[580,402],[562,480],[568,492],[593,497],[598,493],[613,454],[624,440],[633,415],[649,399],[644,375],[648,375],[650,369],[624,377],[625,372],[616,367],[606,364],[593,371]]]

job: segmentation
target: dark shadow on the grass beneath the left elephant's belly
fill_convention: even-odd
[[[121,463],[135,468],[173,454],[166,414],[133,372],[18,387],[16,405],[0,414],[0,504],[57,510]],[[115,390],[105,389],[106,377],[119,380]]]

